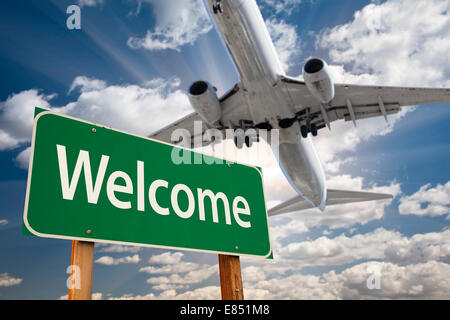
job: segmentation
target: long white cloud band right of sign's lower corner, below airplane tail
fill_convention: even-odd
[[[299,265],[342,265],[358,260],[384,260],[412,264],[431,260],[450,261],[450,230],[416,234],[376,229],[365,234],[294,242],[279,250],[280,258]]]

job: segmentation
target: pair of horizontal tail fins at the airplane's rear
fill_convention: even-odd
[[[392,199],[390,194],[361,192],[361,191],[345,191],[345,190],[327,190],[327,206],[344,203],[364,202],[372,200]],[[287,200],[269,210],[269,216],[276,216],[283,213],[311,209],[313,206],[301,195]]]

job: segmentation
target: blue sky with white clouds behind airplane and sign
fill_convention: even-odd
[[[34,106],[145,135],[191,112],[193,81],[219,94],[238,81],[199,1],[79,0],[81,30],[68,30],[75,2],[0,3],[0,299],[67,293],[70,241],[21,234]],[[291,76],[319,56],[336,82],[450,87],[446,0],[258,4]],[[330,186],[395,198],[271,218],[275,259],[242,259],[246,297],[450,297],[450,104],[407,111],[320,132]],[[273,158],[243,153],[269,205],[294,195]],[[220,297],[216,255],[98,246],[95,261],[97,298]],[[381,289],[367,288],[371,266]]]

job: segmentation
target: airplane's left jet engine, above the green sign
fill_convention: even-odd
[[[214,125],[222,116],[216,89],[206,81],[196,81],[189,87],[189,101],[200,117]]]

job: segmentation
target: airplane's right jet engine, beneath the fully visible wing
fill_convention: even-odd
[[[309,92],[320,103],[327,104],[333,100],[334,82],[325,61],[318,58],[309,59],[303,68],[303,78]]]

